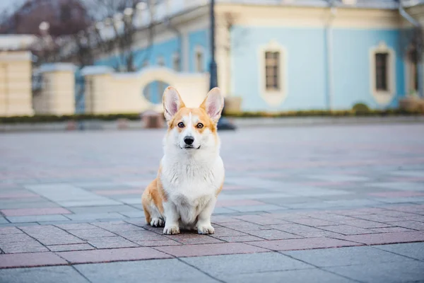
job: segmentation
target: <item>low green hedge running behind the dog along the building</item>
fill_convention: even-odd
[[[408,112],[406,110],[305,110],[305,111],[289,111],[289,112],[240,112],[240,113],[225,113],[226,117],[370,117],[370,116],[412,116],[422,115],[420,112]],[[40,122],[64,122],[64,121],[81,121],[81,120],[102,120],[113,121],[120,118],[136,121],[140,120],[138,113],[130,114],[110,114],[110,115],[34,115],[34,116],[15,116],[15,117],[0,117],[0,124],[11,123],[40,123]]]

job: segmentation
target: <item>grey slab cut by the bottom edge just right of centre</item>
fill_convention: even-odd
[[[346,279],[339,275],[334,275],[324,270],[290,270],[290,271],[277,271],[277,272],[260,272],[250,273],[246,270],[245,273],[239,275],[225,276],[227,283],[353,283],[351,279]]]

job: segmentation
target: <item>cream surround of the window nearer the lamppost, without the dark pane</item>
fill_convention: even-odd
[[[278,90],[268,90],[266,88],[266,52],[279,52],[279,79]],[[271,106],[277,106],[283,103],[287,98],[288,92],[288,52],[283,45],[271,40],[268,44],[259,47],[259,93],[266,103]]]

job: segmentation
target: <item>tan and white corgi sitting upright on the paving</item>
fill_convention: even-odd
[[[211,214],[223,188],[224,165],[216,131],[224,106],[220,88],[213,88],[199,108],[187,108],[178,91],[163,93],[168,129],[158,175],[141,197],[146,221],[165,226],[164,234],[180,229],[214,233]]]

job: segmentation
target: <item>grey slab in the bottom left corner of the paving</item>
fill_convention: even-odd
[[[89,283],[70,266],[16,268],[0,270],[4,283]]]

